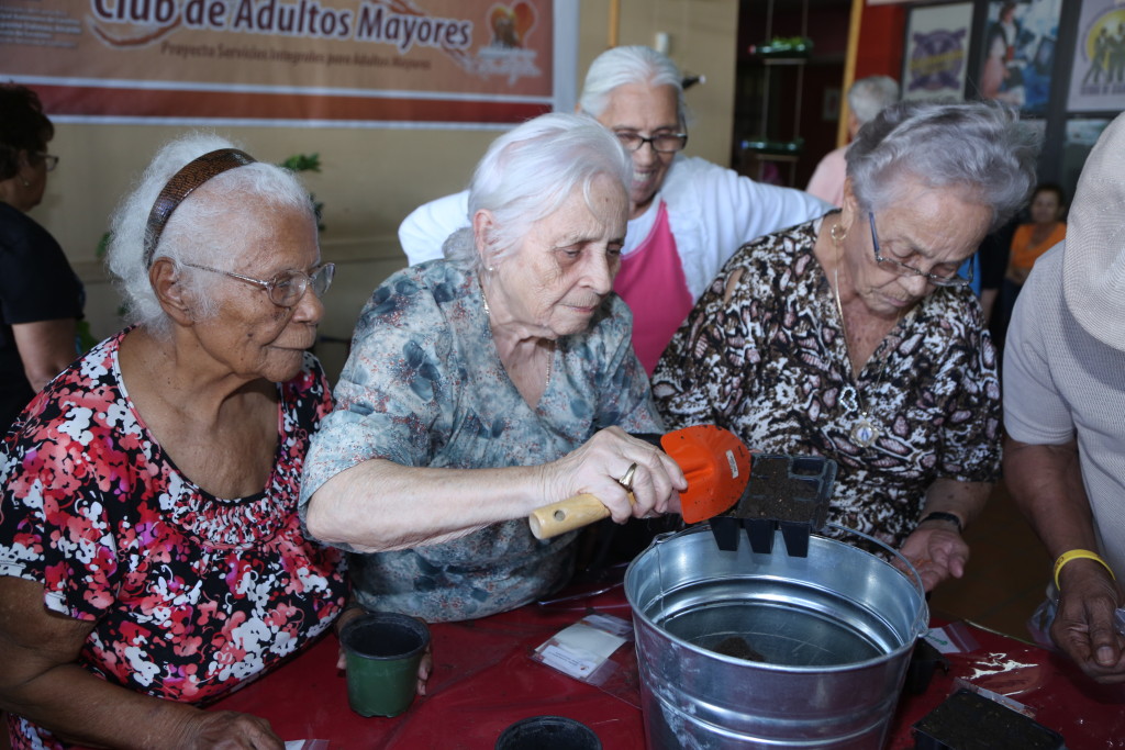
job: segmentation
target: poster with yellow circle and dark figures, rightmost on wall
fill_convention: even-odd
[[[1125,6],[1116,0],[1082,0],[1066,109],[1125,109]]]

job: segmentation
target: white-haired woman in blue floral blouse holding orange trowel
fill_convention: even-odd
[[[678,467],[627,434],[662,431],[610,293],[629,174],[588,117],[524,123],[477,166],[450,257],[364,307],[302,489],[309,533],[366,553],[363,607],[456,621],[552,591],[575,533],[538,541],[526,517],[579,493],[619,523],[678,510]]]

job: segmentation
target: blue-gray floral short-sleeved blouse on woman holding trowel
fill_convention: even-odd
[[[549,387],[531,407],[501,363],[474,271],[439,260],[395,273],[360,314],[335,410],[306,460],[302,517],[322,484],[372,458],[410,467],[536,466],[612,425],[662,432],[631,326],[629,308],[611,295],[588,331],[557,342]],[[368,609],[430,622],[483,617],[565,584],[575,536],[539,541],[518,518],[441,544],[353,553],[352,586]]]

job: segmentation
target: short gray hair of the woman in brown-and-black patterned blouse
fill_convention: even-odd
[[[996,101],[908,101],[888,107],[848,146],[847,175],[861,207],[890,205],[904,179],[962,188],[1002,226],[1035,186],[1040,136]]]

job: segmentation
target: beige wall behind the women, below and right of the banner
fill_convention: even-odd
[[[577,0],[560,0],[576,2]],[[580,4],[578,65],[608,46],[609,0]],[[622,0],[619,44],[655,44],[669,35],[669,55],[706,83],[688,91],[694,115],[690,154],[727,163],[735,76],[737,0]],[[48,112],[50,114],[50,112]],[[143,125],[58,125],[51,153],[61,157],[43,204],[33,216],[63,245],[88,293],[87,317],[94,336],[120,327],[119,298],[94,259],[117,200],[156,148],[181,130]],[[261,160],[320,153],[322,172],[305,182],[324,202],[324,260],[339,268],[325,300],[321,333],[346,340],[363,302],[389,273],[405,265],[396,229],[415,206],[460,190],[495,130],[309,129],[224,127],[222,135]],[[330,377],[343,364],[345,345],[323,343],[317,353]]]

